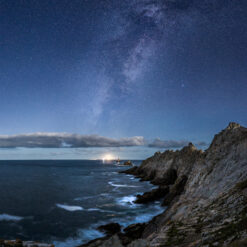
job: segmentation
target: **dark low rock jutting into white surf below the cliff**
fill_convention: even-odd
[[[145,192],[142,195],[137,195],[137,199],[135,200],[135,203],[148,203],[153,202],[155,200],[158,200],[160,198],[164,198],[165,195],[169,193],[169,187],[168,186],[160,186],[157,189],[153,189],[149,192]]]

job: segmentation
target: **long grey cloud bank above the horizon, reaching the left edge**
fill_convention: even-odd
[[[59,147],[131,147],[143,146],[142,136],[129,138],[108,138],[99,135],[79,135],[68,133],[31,133],[0,136],[1,148],[59,148]]]

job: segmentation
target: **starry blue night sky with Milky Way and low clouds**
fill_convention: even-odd
[[[246,78],[246,0],[0,0],[0,158],[205,148]]]

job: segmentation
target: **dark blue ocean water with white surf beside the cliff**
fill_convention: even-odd
[[[133,161],[136,165],[140,161]],[[0,161],[0,238],[73,247],[103,236],[97,226],[145,222],[159,202],[136,205],[154,188],[102,161]]]

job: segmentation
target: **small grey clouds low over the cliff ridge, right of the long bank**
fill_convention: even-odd
[[[184,146],[187,146],[189,144],[189,141],[181,140],[181,141],[175,141],[175,140],[161,140],[159,138],[156,138],[152,143],[150,143],[149,147],[154,148],[182,148]],[[206,146],[207,144],[205,142],[197,142],[195,143],[196,146]]]

